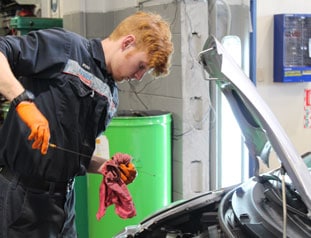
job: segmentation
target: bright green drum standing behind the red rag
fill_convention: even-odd
[[[161,111],[118,113],[105,132],[110,155],[117,152],[133,156],[138,170],[135,181],[128,185],[137,215],[120,218],[114,205],[98,221],[100,175],[88,175],[89,238],[111,238],[125,226],[138,224],[148,215],[171,203],[171,114]]]

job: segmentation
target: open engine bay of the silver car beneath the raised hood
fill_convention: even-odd
[[[284,224],[280,183],[275,174],[253,177],[240,186],[225,190],[212,202],[207,196],[205,202],[155,219],[147,228],[127,237],[281,237]],[[286,184],[286,201],[288,236],[309,237],[308,210],[290,183]]]

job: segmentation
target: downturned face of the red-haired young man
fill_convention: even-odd
[[[147,54],[137,51],[129,45],[120,51],[111,64],[112,76],[115,81],[141,80],[149,71]]]

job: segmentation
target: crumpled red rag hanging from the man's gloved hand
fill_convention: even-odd
[[[103,166],[102,174],[103,180],[99,189],[99,209],[96,218],[101,219],[105,215],[107,207],[112,204],[115,205],[115,212],[119,217],[126,219],[135,216],[136,209],[133,199],[126,184],[120,178],[117,161],[107,161]]]

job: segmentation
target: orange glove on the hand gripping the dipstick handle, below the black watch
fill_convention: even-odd
[[[45,155],[49,147],[50,128],[45,116],[33,102],[23,101],[16,106],[16,111],[22,121],[30,128],[28,140],[34,140],[33,149],[40,149]]]

